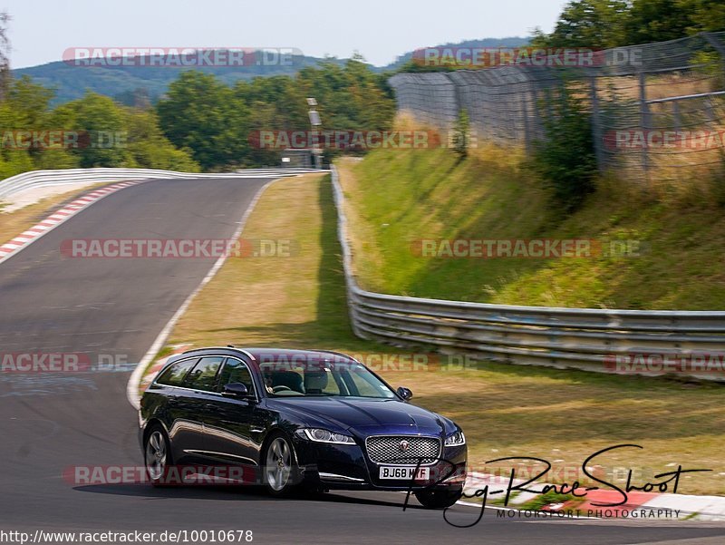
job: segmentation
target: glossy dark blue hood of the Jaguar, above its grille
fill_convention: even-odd
[[[295,397],[270,400],[276,410],[304,419],[305,425],[335,428],[367,436],[376,433],[422,433],[440,436],[448,419],[396,399]]]

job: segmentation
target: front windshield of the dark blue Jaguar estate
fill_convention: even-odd
[[[260,364],[266,391],[273,397],[395,397],[387,384],[357,362]]]

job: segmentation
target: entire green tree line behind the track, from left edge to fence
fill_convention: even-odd
[[[0,179],[73,167],[216,171],[276,165],[279,151],[258,149],[250,135],[309,129],[308,96],[320,103],[330,130],[386,130],[395,112],[385,77],[361,57],[234,86],[212,74],[184,72],[159,102],[136,107],[86,92],[51,108],[52,90],[26,76],[11,78],[0,101]],[[80,139],[66,145],[47,133]]]

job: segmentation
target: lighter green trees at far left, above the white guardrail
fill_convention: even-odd
[[[7,84],[0,102],[0,178],[74,167],[198,168],[189,151],[175,148],[163,135],[151,109],[123,107],[95,93],[50,109],[52,97],[51,90],[26,77]],[[72,133],[80,138],[53,140]],[[99,134],[112,135],[112,141],[91,140]]]

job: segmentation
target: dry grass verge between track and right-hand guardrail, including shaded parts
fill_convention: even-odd
[[[292,238],[290,258],[230,258],[194,299],[169,345],[274,345],[339,350],[366,358],[406,355],[369,343],[350,329],[337,219],[329,177],[275,182],[259,200],[242,236]],[[478,363],[383,369],[393,386],[409,386],[414,404],[458,422],[469,441],[471,469],[503,456],[537,456],[568,475],[606,446],[639,443],[643,451],[612,453],[605,471],[672,471],[668,464],[710,468],[683,476],[682,493],[725,494],[723,387],[637,376],[600,375]],[[608,469],[607,469],[608,468]],[[550,476],[548,482],[558,482]],[[568,482],[571,482],[569,480]]]

